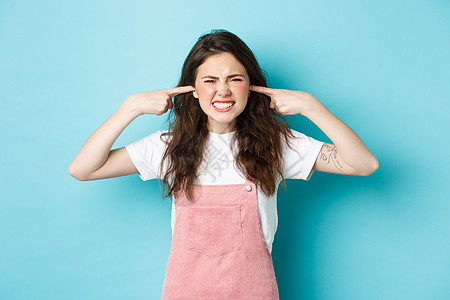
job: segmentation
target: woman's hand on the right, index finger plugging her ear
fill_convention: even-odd
[[[321,105],[316,97],[302,91],[271,89],[255,85],[251,85],[250,90],[269,96],[270,108],[276,109],[282,115],[308,115],[314,107]]]

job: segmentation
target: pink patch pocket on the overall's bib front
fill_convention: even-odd
[[[210,257],[242,249],[241,207],[191,206],[188,232],[188,249]]]

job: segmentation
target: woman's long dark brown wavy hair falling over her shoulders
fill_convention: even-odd
[[[250,84],[267,86],[266,78],[250,48],[236,35],[226,30],[213,30],[202,35],[183,64],[178,86],[194,86],[198,67],[211,55],[228,52],[245,67]],[[231,145],[237,141],[236,166],[263,193],[275,193],[282,174],[282,142],[293,137],[285,119],[270,108],[270,97],[251,92],[244,111],[236,119]],[[160,168],[164,196],[184,191],[192,199],[192,185],[199,176],[199,167],[209,134],[208,117],[192,93],[174,97],[169,114],[169,129],[161,136],[167,144]],[[163,136],[168,136],[164,139]],[[290,145],[289,145],[290,146]],[[162,174],[165,162],[167,170]]]

